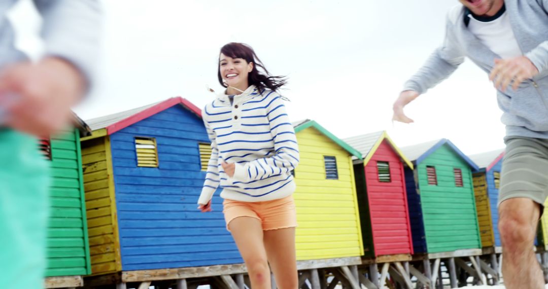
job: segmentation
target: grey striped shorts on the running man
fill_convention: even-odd
[[[544,206],[548,196],[548,140],[506,137],[505,143],[499,205],[511,198],[528,198]]]

